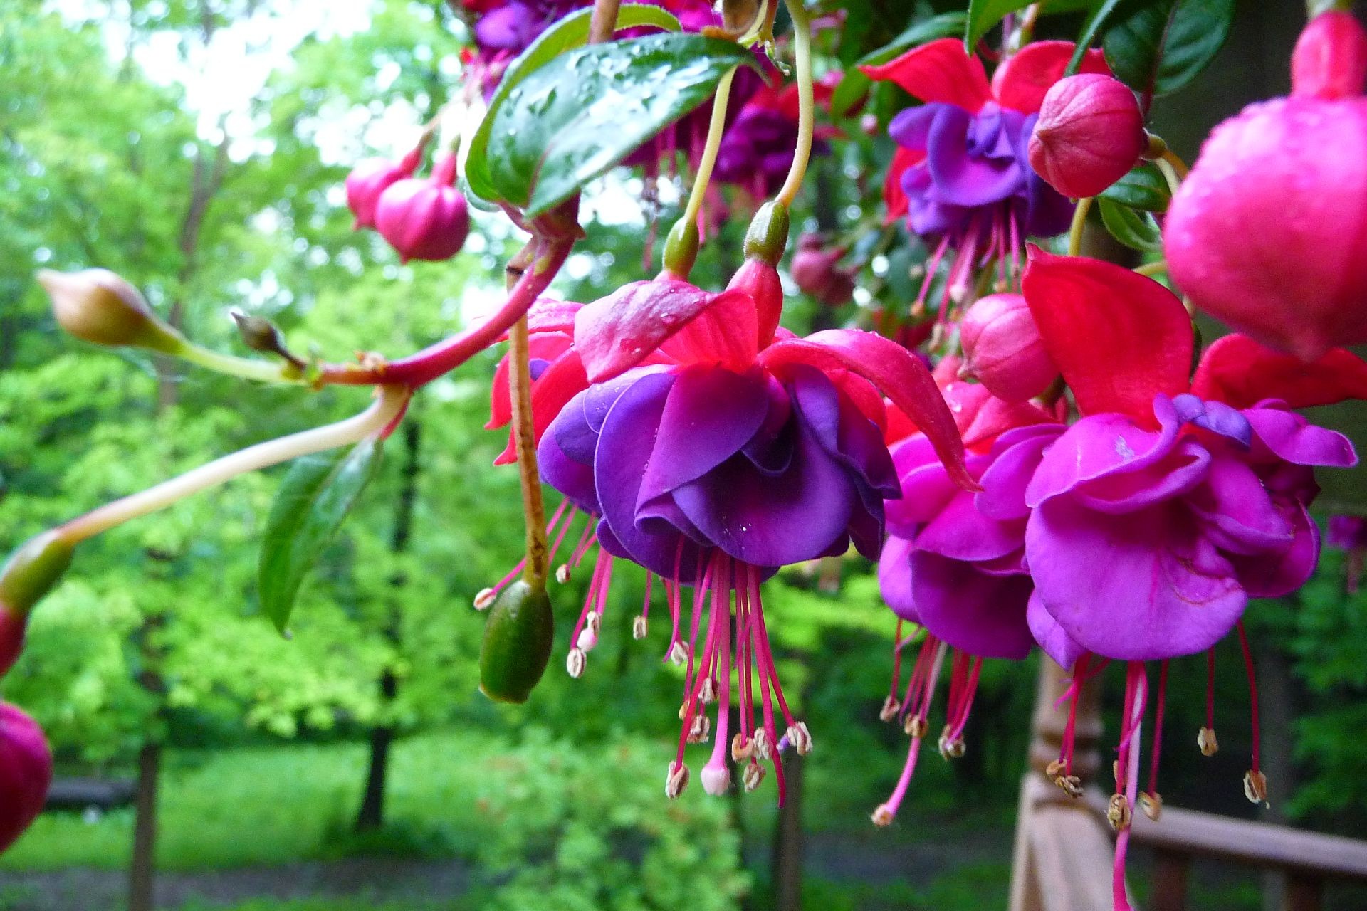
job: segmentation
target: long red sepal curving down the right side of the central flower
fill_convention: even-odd
[[[778,341],[760,352],[760,362],[770,369],[808,363],[827,373],[837,369],[857,373],[891,399],[930,438],[957,483],[968,490],[977,489],[964,467],[964,441],[954,426],[954,415],[931,372],[920,358],[891,339],[858,329],[826,329],[805,339]]]

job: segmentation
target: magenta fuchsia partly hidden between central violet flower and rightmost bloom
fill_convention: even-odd
[[[958,381],[957,370],[958,363],[946,359],[935,374],[943,380],[945,399],[964,437],[968,473],[983,489],[954,483],[921,433],[891,449],[901,499],[884,504],[889,538],[878,579],[883,600],[898,617],[898,631],[893,684],[879,717],[901,720],[912,743],[897,787],[874,811],[878,825],[891,824],[906,795],[949,651],[946,724],[939,736],[946,758],[964,754],[964,727],[983,658],[1020,660],[1035,645],[1025,617],[1032,589],[1025,568],[1029,511],[1018,499],[991,496],[988,478],[1003,473],[1028,477],[1064,425],[1057,412],[1003,402],[982,385]],[[902,621],[920,630],[904,639]],[[901,651],[916,641],[916,664],[898,698]]]

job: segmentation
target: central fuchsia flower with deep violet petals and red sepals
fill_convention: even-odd
[[[582,307],[574,347],[589,387],[539,448],[544,479],[600,516],[603,550],[664,582],[668,651],[688,665],[668,796],[688,783],[685,744],[711,735],[708,702],[718,702],[716,743],[703,769],[709,792],[730,780],[727,744],[746,763],[746,788],[763,779],[760,762],[772,761],[781,799],[778,751],[785,740],[798,753],[811,748],[779,686],[760,582],[852,542],[878,556],[883,500],[898,496],[882,395],[925,430],[951,477],[972,486],[953,417],[919,359],[868,332],[793,337],[778,328],[776,281],[753,270],[738,276],[709,294],[666,275]],[[596,576],[591,598],[607,583]],[[693,589],[692,621],[685,586]],[[585,630],[596,636],[581,617],[571,669]],[[727,740],[733,668],[741,729]]]

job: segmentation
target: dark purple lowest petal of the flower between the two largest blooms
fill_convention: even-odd
[[[1025,624],[1029,576],[990,576],[972,563],[912,553],[912,597],[921,624],[956,649],[1020,660],[1035,639]]]

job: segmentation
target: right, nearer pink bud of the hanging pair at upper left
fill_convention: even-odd
[[[454,184],[455,156],[446,156],[431,179],[398,180],[380,194],[375,224],[399,260],[450,260],[465,246],[470,213]]]

